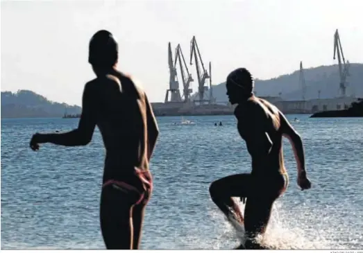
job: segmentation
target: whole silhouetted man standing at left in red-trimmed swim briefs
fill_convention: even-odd
[[[90,40],[89,62],[96,78],[83,91],[78,128],[59,134],[36,133],[39,143],[85,146],[97,125],[105,145],[105,166],[101,193],[101,232],[112,250],[138,249],[144,208],[153,182],[149,162],[158,138],[158,124],[151,104],[130,76],[117,71],[118,44],[107,30]]]

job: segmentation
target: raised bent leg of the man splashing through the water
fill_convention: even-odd
[[[252,191],[251,180],[249,174],[237,174],[223,177],[210,184],[210,197],[227,218],[233,215],[239,223],[244,222],[242,211],[232,197],[247,197],[248,191]]]

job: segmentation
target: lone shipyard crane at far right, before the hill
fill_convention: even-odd
[[[343,49],[341,47],[340,37],[338,33],[338,29],[335,30],[334,34],[334,56],[333,59],[335,60],[335,55],[338,57],[338,66],[339,66],[339,76],[340,76],[340,83],[339,89],[341,91],[341,96],[346,96],[346,77],[349,76],[349,61],[344,59]]]

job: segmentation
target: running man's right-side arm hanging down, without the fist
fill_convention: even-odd
[[[285,116],[280,113],[282,134],[289,139],[294,150],[294,156],[298,167],[298,175],[306,175],[305,171],[305,152],[303,148],[303,141],[300,135],[292,128]]]

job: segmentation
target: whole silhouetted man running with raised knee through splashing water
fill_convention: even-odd
[[[285,116],[271,103],[253,94],[247,69],[235,69],[226,81],[227,96],[237,104],[237,130],[252,158],[251,173],[223,177],[210,185],[210,196],[230,219],[244,225],[247,249],[261,248],[255,236],[264,234],[273,202],[287,189],[288,176],[282,154],[282,136],[292,143],[298,169],[298,186],[310,189],[305,171],[303,143]],[[244,215],[232,197],[246,201]]]

